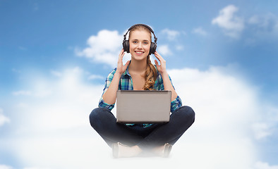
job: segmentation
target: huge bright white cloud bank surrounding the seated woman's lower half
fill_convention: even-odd
[[[88,119],[103,85],[86,81],[87,73],[81,68],[61,71],[56,80],[42,77],[45,84],[40,89],[51,87],[52,92],[43,98],[24,98],[28,106],[12,103],[11,112],[20,112],[20,118],[14,119],[11,137],[1,138],[1,143],[8,145],[23,165],[37,168],[171,168],[174,163],[178,168],[248,169],[258,161],[252,126],[265,123],[258,120],[265,105],[257,89],[235,70],[232,66],[169,70],[183,105],[194,109],[196,119],[167,159],[111,157],[111,149]],[[30,89],[41,82],[32,82]]]

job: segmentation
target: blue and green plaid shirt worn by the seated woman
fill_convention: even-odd
[[[105,86],[103,89],[103,93],[107,91],[109,85],[111,84],[114,74],[116,73],[116,68],[114,70],[111,70],[109,75],[107,76],[107,79],[105,80]],[[169,76],[169,79],[171,81],[171,77]],[[172,84],[172,82],[171,82]],[[172,84],[173,85],[173,84]],[[174,87],[174,86],[173,86]],[[119,81],[119,90],[133,90],[133,82],[131,75],[128,73],[128,68],[126,71],[121,75],[121,79]],[[155,90],[164,90],[164,85],[163,85],[163,80],[162,80],[162,75],[157,71],[157,80],[155,80],[155,84],[152,87],[152,89]],[[102,97],[99,100],[99,107],[100,108],[108,108],[110,111],[114,108],[115,104],[107,104],[104,102]],[[179,108],[182,106],[181,103],[181,98],[179,96],[174,99],[174,101],[171,101],[171,112],[174,112],[176,108]],[[126,125],[133,125],[133,124],[126,124]],[[148,127],[152,124],[143,124],[144,127]]]

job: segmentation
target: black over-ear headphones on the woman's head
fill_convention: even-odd
[[[147,27],[148,30],[150,30],[150,32],[152,32],[152,34],[154,35],[155,37],[155,32],[152,30],[152,28],[150,28],[148,25],[145,25],[145,24],[136,24],[136,25],[133,25],[132,27],[130,27],[128,29],[128,32],[130,30],[133,29],[133,27],[135,26],[138,26],[138,25],[141,25],[141,26],[144,26],[144,27]],[[128,32],[126,32],[126,35],[128,34]],[[129,41],[126,40],[126,35],[123,35],[123,51],[126,51],[127,53],[129,53]],[[155,42],[152,42],[150,44],[150,52],[149,52],[149,55],[150,54],[155,54],[155,50],[157,49],[157,37],[155,37]]]

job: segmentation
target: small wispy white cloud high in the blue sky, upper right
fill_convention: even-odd
[[[235,15],[237,11],[238,8],[234,5],[226,6],[219,11],[217,18],[212,20],[212,24],[222,27],[225,35],[238,38],[244,29],[244,21]]]

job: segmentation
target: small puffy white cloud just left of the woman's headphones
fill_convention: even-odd
[[[87,39],[87,48],[81,51],[75,49],[75,53],[78,56],[85,56],[94,62],[105,63],[114,68],[122,48],[122,41],[123,37],[119,35],[118,31],[101,30],[97,36],[92,35]]]

